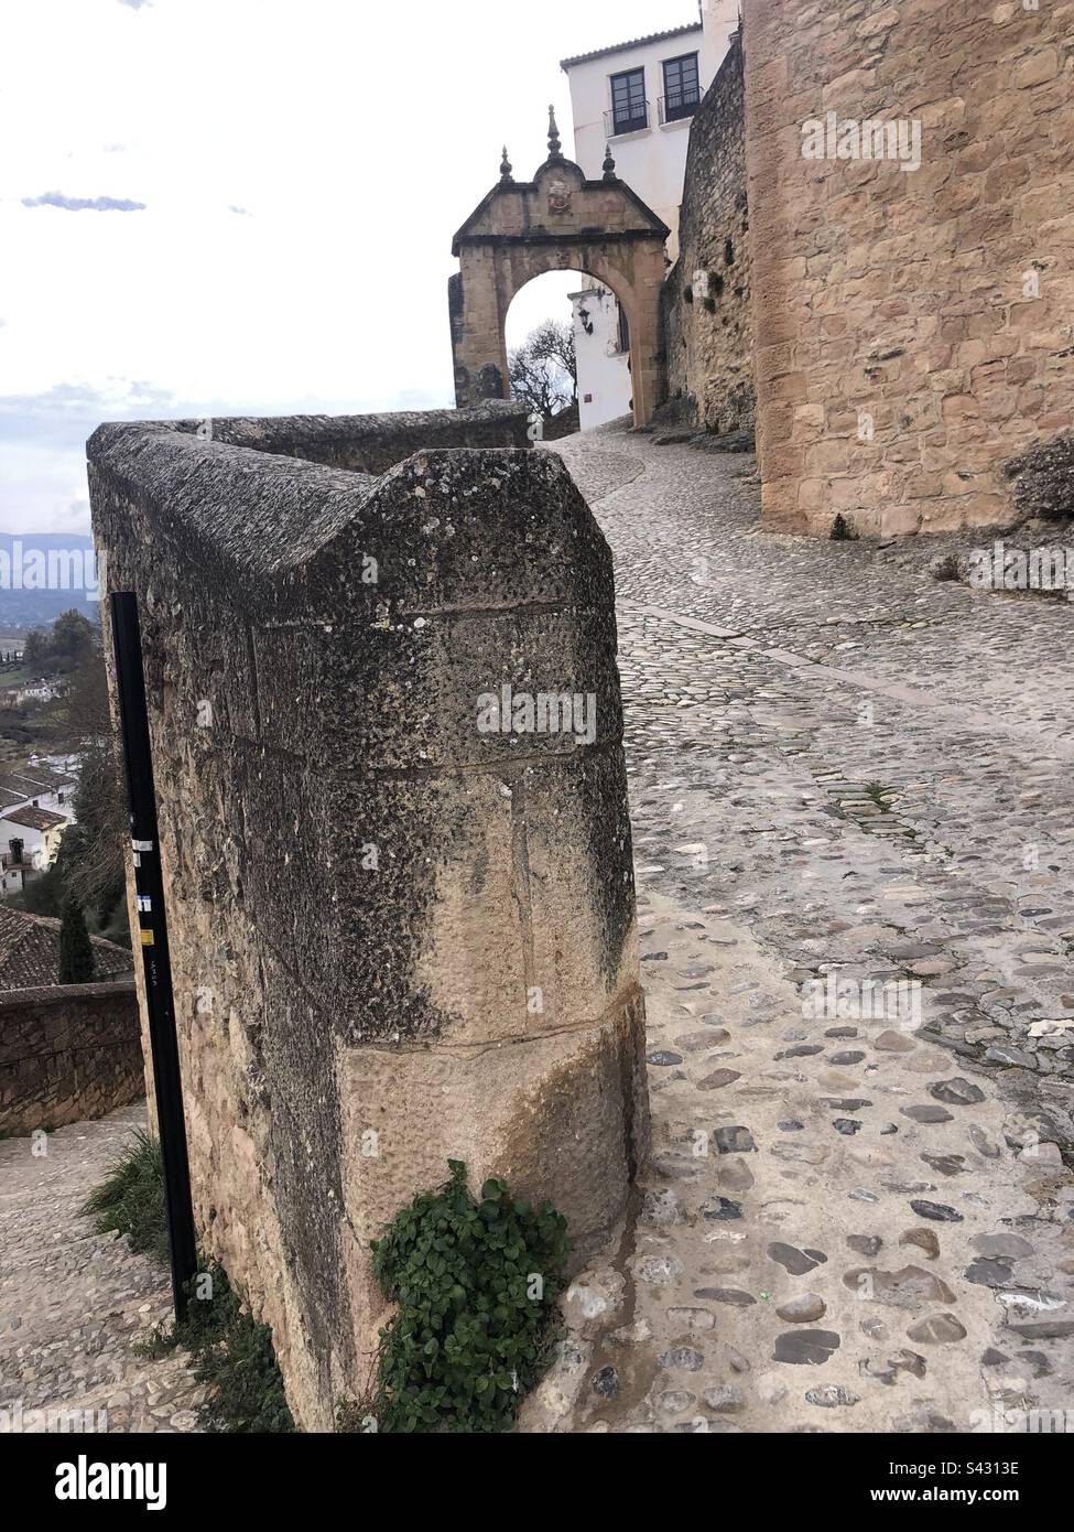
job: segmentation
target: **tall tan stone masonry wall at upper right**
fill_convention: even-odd
[[[1008,519],[1074,420],[1074,5],[746,0],[745,58],[766,522]],[[829,110],[918,119],[921,169],[803,158]]]

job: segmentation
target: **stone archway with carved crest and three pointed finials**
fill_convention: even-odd
[[[585,271],[627,311],[631,337],[634,424],[657,404],[659,302],[668,227],[616,176],[608,153],[604,179],[587,181],[559,147],[548,109],[548,158],[533,181],[515,181],[507,150],[499,181],[455,234],[460,271],[447,302],[455,357],[455,403],[509,398],[504,325],[510,300],[545,271]]]

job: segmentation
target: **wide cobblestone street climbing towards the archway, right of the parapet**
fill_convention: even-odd
[[[1074,1411],[1074,611],[932,578],[979,533],[760,533],[746,457],[556,450],[616,556],[654,1157],[529,1428]]]

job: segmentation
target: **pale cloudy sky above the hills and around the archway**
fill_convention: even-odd
[[[0,532],[89,530],[101,420],[454,403],[450,237],[501,144],[529,178],[555,101],[571,153],[559,58],[696,18],[696,0],[11,0]],[[515,332],[556,282],[519,296]]]

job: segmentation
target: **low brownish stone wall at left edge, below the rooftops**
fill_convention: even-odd
[[[0,991],[0,1132],[103,1117],[144,1094],[133,979]]]

